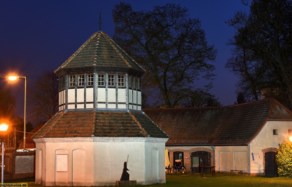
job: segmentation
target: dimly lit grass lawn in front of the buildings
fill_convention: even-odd
[[[33,178],[17,179],[4,181],[10,182],[25,182],[29,187],[42,187],[42,185],[34,184]],[[143,185],[139,185],[143,186]],[[215,177],[210,174],[201,177],[199,174],[166,174],[166,184],[149,185],[154,187],[169,186],[169,187],[184,187],[184,186],[292,186],[292,178],[286,177],[255,177],[248,175],[216,173]]]

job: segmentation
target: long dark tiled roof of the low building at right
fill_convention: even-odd
[[[144,111],[171,137],[168,145],[247,145],[267,120],[292,121],[292,112],[273,98],[224,107]]]

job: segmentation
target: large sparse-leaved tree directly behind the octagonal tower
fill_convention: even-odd
[[[130,4],[114,7],[114,40],[147,70],[144,93],[159,104],[175,107],[200,93],[194,80],[212,80],[217,50],[208,45],[199,19],[175,4],[134,11]],[[212,84],[205,87],[208,91]]]

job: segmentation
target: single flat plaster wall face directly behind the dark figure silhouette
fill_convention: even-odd
[[[144,181],[144,143],[145,142],[95,142],[94,144],[94,186],[114,185],[122,175],[124,162],[130,180]],[[106,166],[106,167],[105,167]]]

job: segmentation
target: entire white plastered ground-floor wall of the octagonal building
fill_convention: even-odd
[[[136,180],[137,184],[165,183],[165,138],[40,138],[34,141],[37,184],[115,185],[128,155],[130,180]]]

